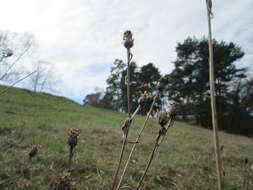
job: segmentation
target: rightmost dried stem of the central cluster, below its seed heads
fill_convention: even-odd
[[[154,148],[153,148],[153,150],[152,150],[152,152],[150,154],[150,157],[149,157],[146,169],[144,171],[144,174],[141,176],[141,179],[138,182],[138,187],[136,188],[136,190],[139,190],[141,188],[142,182],[143,182],[144,178],[147,175],[148,169],[149,169],[149,167],[150,167],[150,165],[151,165],[151,163],[152,163],[152,161],[154,159],[155,153],[158,150],[160,144],[163,142],[168,129],[173,125],[173,123],[174,123],[174,117],[171,117],[170,120],[169,120],[169,122],[168,122],[168,124],[167,124],[167,127],[165,129],[165,134],[159,133],[158,137],[156,138],[155,146],[154,146]]]

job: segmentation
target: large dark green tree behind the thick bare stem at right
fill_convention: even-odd
[[[241,100],[241,87],[237,91],[234,90],[235,83],[246,78],[245,69],[235,66],[244,52],[234,43],[224,41],[214,40],[213,47],[219,128],[234,133],[253,134],[248,130],[249,124],[244,125],[245,122],[242,124],[238,120],[239,115],[247,118],[250,116],[244,114],[246,105],[242,106],[238,102]],[[183,115],[194,115],[198,124],[210,128],[208,40],[187,38],[183,43],[178,43],[176,52],[175,69],[169,74],[172,78],[168,88],[169,98],[184,105]],[[236,117],[232,114],[234,110],[239,111]],[[237,118],[236,124],[227,122],[232,118]]]

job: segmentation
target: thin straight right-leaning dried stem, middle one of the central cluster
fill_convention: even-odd
[[[138,136],[137,136],[135,142],[139,142],[139,140],[140,140],[140,137],[141,137],[141,135],[142,135],[142,132],[143,132],[143,130],[145,129],[145,127],[146,127],[146,125],[147,125],[147,122],[148,122],[148,120],[149,120],[149,118],[150,118],[150,115],[151,115],[151,112],[152,112],[153,107],[154,107],[154,105],[155,105],[155,102],[156,102],[157,97],[158,97],[158,92],[157,92],[157,94],[155,95],[155,97],[154,97],[154,99],[153,99],[153,102],[152,102],[152,104],[151,104],[151,106],[150,106],[150,109],[149,109],[149,112],[148,112],[148,114],[147,114],[147,117],[146,117],[146,119],[145,119],[145,121],[144,121],[144,123],[143,123],[143,126],[142,126],[140,132],[138,133]],[[121,182],[122,182],[122,180],[123,180],[123,178],[124,178],[124,175],[125,175],[125,173],[126,173],[128,164],[129,164],[129,162],[130,162],[130,160],[131,160],[131,157],[132,157],[132,154],[133,154],[133,152],[134,152],[134,150],[135,150],[135,148],[136,148],[136,145],[137,145],[137,143],[135,143],[135,144],[133,145],[132,149],[131,149],[131,152],[130,152],[130,154],[129,154],[129,156],[128,156],[128,159],[127,159],[127,161],[126,161],[126,164],[125,164],[125,166],[124,166],[124,169],[123,169],[123,172],[122,172],[122,175],[121,175],[121,177],[120,177],[120,181],[119,181],[119,183],[118,183],[118,185],[117,185],[116,190],[118,190],[118,189],[120,188]]]

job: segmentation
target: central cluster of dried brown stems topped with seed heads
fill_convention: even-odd
[[[134,151],[136,149],[137,144],[140,141],[142,133],[143,133],[144,129],[146,128],[147,122],[150,119],[151,113],[152,113],[152,111],[154,109],[154,105],[157,102],[157,100],[159,98],[161,98],[162,93],[165,90],[166,85],[169,83],[169,79],[168,78],[165,78],[165,77],[160,78],[158,80],[158,82],[157,82],[156,91],[155,91],[154,95],[151,95],[151,94],[149,94],[147,92],[142,93],[140,95],[139,99],[138,99],[138,107],[133,112],[133,114],[131,114],[130,113],[130,84],[131,84],[131,82],[130,82],[130,74],[129,74],[129,65],[130,65],[130,61],[131,61],[131,59],[133,57],[133,55],[132,55],[132,53],[130,51],[130,48],[133,47],[133,38],[132,38],[132,32],[130,30],[127,30],[126,32],[124,32],[123,40],[124,40],[124,46],[127,49],[127,76],[126,76],[126,82],[125,83],[127,85],[128,118],[126,118],[125,122],[122,125],[123,143],[122,143],[122,148],[121,148],[121,152],[120,152],[119,162],[118,162],[118,165],[117,165],[117,168],[116,168],[116,172],[115,172],[115,175],[114,175],[114,179],[113,179],[112,190],[118,190],[118,189],[121,188],[121,183],[122,183],[122,180],[123,180],[123,178],[125,176],[125,172],[126,172],[126,170],[128,168],[128,164],[129,164],[129,162],[131,160],[131,157],[132,157],[132,155],[133,155],[133,153],[134,153]],[[130,130],[132,121],[133,121],[134,117],[136,116],[136,114],[141,109],[141,107],[146,106],[146,105],[150,105],[150,108],[149,108],[149,111],[148,111],[148,113],[146,115],[145,121],[142,124],[142,127],[141,127],[140,131],[138,132],[136,140],[133,141],[133,142],[131,142],[131,141],[128,140],[128,134],[129,134],[129,130]],[[168,124],[168,126],[166,126],[164,128],[163,136],[166,134],[167,129],[173,124],[173,121],[174,121],[174,117],[172,117],[172,116],[175,115],[175,106],[172,106],[172,107],[173,107],[172,110],[174,110],[174,111],[171,111],[171,113],[169,115],[169,119],[168,119],[169,124]],[[163,140],[162,136],[159,137],[159,140],[160,140],[160,138]],[[118,174],[119,174],[119,171],[120,171],[120,168],[121,168],[121,165],[122,165],[123,155],[124,155],[124,152],[126,150],[125,148],[130,143],[133,144],[133,146],[132,146],[131,151],[130,151],[130,153],[128,155],[126,163],[123,166],[123,172],[122,172],[122,174],[120,176],[120,179],[118,181]],[[158,146],[160,145],[160,143],[158,144]],[[155,150],[157,150],[157,148],[158,147],[156,147]],[[153,154],[154,153],[155,153],[155,151],[153,151]],[[152,159],[151,159],[151,161],[149,161],[150,163],[148,164],[148,167],[146,168],[146,172],[147,172],[147,170],[148,170],[148,168],[149,168],[149,166],[150,166],[150,164],[152,162]],[[143,178],[145,177],[145,175],[142,176],[142,179],[140,180],[140,184],[141,184]]]

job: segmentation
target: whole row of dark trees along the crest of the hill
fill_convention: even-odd
[[[242,49],[233,42],[213,41],[214,72],[219,129],[243,135],[253,135],[253,79],[246,75],[246,68],[236,64],[244,56]],[[187,38],[176,46],[177,58],[174,69],[165,76],[170,79],[163,99],[175,100],[181,107],[183,118],[191,117],[199,126],[211,128],[211,106],[209,97],[208,40]],[[126,64],[116,59],[106,82],[105,92],[88,94],[84,103],[96,107],[127,110]],[[155,91],[161,73],[153,63],[138,67],[130,64],[131,107],[137,106],[140,93]],[[162,106],[158,102],[156,109]],[[155,110],[156,110],[155,109]],[[147,108],[141,110],[146,114]]]

